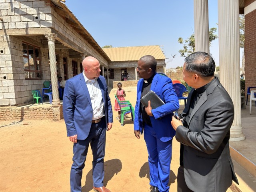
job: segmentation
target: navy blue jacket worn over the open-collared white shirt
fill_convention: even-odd
[[[98,79],[104,102],[105,121],[113,122],[113,112],[108,87],[103,76]],[[77,134],[78,140],[88,137],[92,124],[92,103],[83,73],[66,81],[63,97],[63,115],[68,136]]]

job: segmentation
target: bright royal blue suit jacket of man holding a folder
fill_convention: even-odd
[[[140,110],[142,88],[143,79],[140,79],[137,85],[134,130],[140,130],[141,133],[143,133],[142,113]],[[150,120],[157,138],[166,142],[171,140],[175,135],[171,120],[172,112],[179,108],[179,100],[172,86],[172,80],[166,76],[156,74],[152,80],[150,90],[154,91],[165,103],[156,109],[152,109],[153,116],[150,116]]]

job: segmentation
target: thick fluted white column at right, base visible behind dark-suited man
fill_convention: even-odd
[[[238,0],[218,0],[220,82],[234,103],[230,140],[245,140],[241,123]]]

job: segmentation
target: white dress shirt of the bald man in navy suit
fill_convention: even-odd
[[[92,111],[93,111],[92,120],[102,118],[105,115],[105,113],[104,113],[104,103],[102,99],[102,92],[100,90],[100,86],[97,81],[98,78],[90,80],[85,76],[84,71],[83,71],[83,75],[84,75],[84,80],[86,82],[86,86],[88,88],[90,99],[92,102]]]

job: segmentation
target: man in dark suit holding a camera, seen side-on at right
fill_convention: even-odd
[[[193,87],[182,115],[188,127],[172,118],[180,145],[178,192],[225,192],[238,183],[229,151],[233,102],[217,77],[215,62],[205,52],[185,59],[183,79]]]

